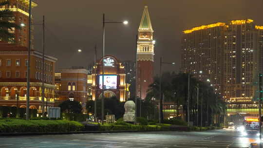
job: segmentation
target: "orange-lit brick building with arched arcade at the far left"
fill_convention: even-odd
[[[21,29],[9,28],[14,37],[7,41],[0,40],[0,106],[26,108],[27,66],[28,66],[28,5],[29,0],[9,0],[9,5],[0,10],[13,11],[12,21]],[[37,6],[32,3],[32,7]],[[32,37],[33,38],[33,37]],[[33,47],[33,46],[32,46]],[[56,58],[31,50],[30,56],[30,109],[42,111],[42,90],[44,89],[44,111],[55,102],[55,63]],[[44,70],[44,73],[43,73]],[[44,81],[44,88],[42,88]]]

